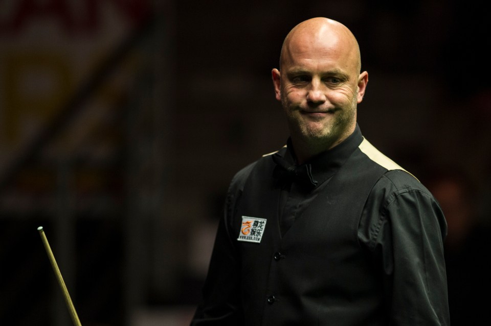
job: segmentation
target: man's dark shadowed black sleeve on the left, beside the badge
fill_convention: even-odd
[[[196,309],[191,326],[240,326],[243,323],[239,279],[240,257],[230,228],[236,204],[252,167],[253,165],[249,165],[239,171],[230,184],[224,216],[218,223],[208,274],[203,287],[203,300]]]

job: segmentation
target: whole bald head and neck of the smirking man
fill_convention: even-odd
[[[360,49],[342,23],[317,17],[298,24],[271,71],[275,97],[288,120],[298,163],[344,141],[356,128],[368,72]]]

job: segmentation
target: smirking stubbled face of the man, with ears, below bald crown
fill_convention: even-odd
[[[331,148],[354,131],[356,105],[362,101],[368,77],[363,80],[356,56],[342,40],[298,39],[286,47],[281,72],[273,70],[276,98],[294,141]]]

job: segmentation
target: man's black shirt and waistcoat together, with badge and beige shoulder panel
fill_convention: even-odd
[[[285,172],[286,171],[286,172]],[[448,325],[443,214],[359,127],[239,171],[193,325]]]

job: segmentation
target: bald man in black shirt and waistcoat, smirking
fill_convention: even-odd
[[[448,325],[443,214],[361,134],[368,73],[341,23],[285,38],[287,146],[239,171],[192,325]]]

